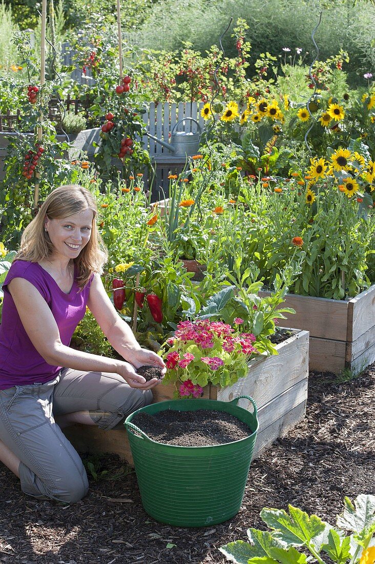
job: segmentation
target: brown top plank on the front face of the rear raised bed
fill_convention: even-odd
[[[259,296],[269,296],[261,290]],[[348,303],[339,299],[312,298],[286,294],[284,305],[292,307],[295,314],[286,314],[285,327],[298,327],[310,332],[310,337],[346,341]],[[373,323],[372,323],[373,325]]]

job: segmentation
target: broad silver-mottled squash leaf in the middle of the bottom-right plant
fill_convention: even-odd
[[[288,547],[308,544],[325,529],[325,523],[317,515],[309,516],[292,505],[289,505],[289,513],[283,509],[264,508],[261,511],[261,518],[266,525],[275,529],[273,536],[283,540]]]

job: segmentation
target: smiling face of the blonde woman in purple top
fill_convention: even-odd
[[[45,229],[54,245],[54,258],[58,255],[68,259],[78,257],[89,243],[93,217],[92,210],[88,208],[63,219],[46,218]]]

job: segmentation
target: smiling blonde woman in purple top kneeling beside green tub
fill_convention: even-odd
[[[3,284],[0,326],[0,460],[25,493],[73,503],[88,488],[80,456],[61,432],[74,423],[113,429],[152,401],[136,373],[165,364],[141,349],[100,274],[107,259],[89,190],[56,188],[25,229]],[[125,360],[69,347],[86,305]]]

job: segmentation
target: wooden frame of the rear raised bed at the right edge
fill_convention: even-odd
[[[310,369],[356,373],[374,362],[375,284],[348,301],[288,294],[285,306],[296,313],[283,325],[310,332]]]

